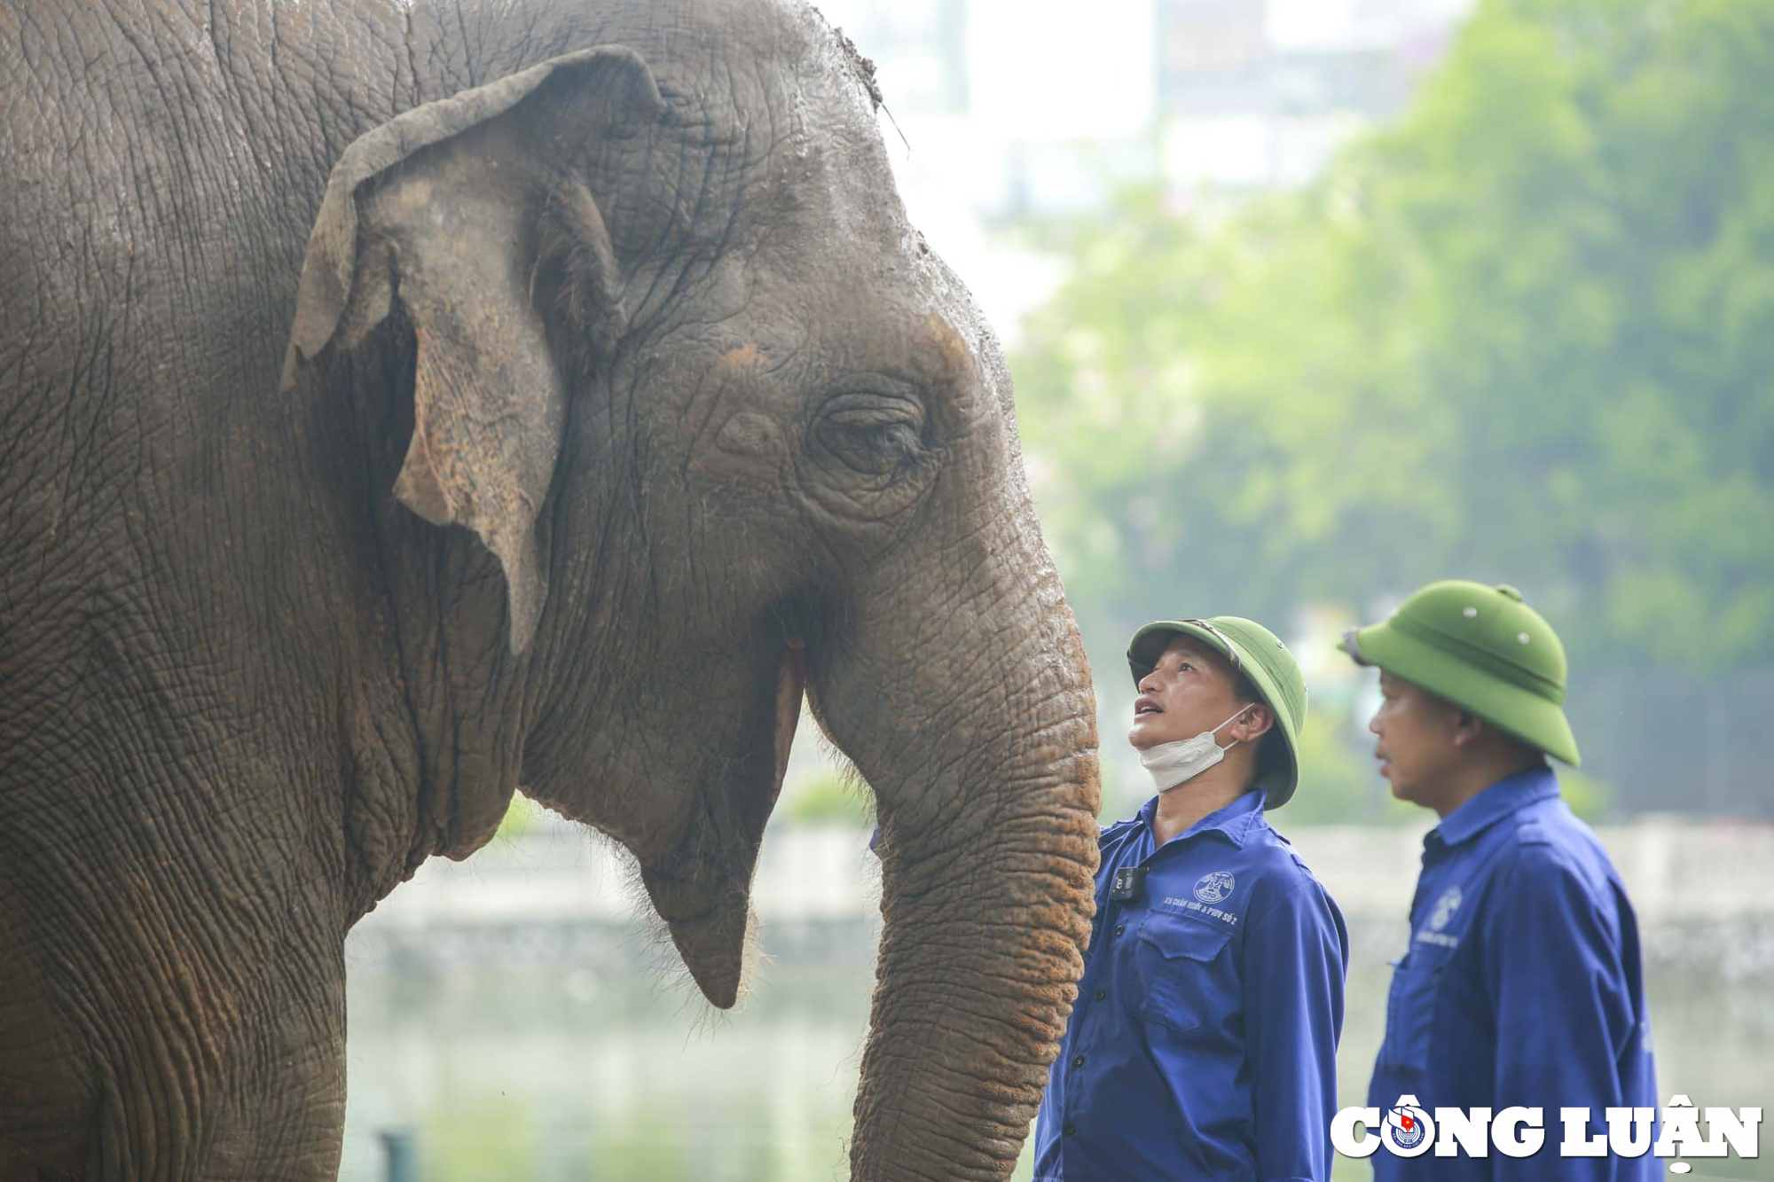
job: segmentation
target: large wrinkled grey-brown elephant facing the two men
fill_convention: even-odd
[[[1008,1175],[1089,680],[862,66],[183,2],[0,9],[0,1178],[332,1177],[344,934],[520,786],[733,1005],[804,687],[883,822],[853,1177]]]

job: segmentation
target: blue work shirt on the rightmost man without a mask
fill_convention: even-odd
[[[1550,768],[1497,781],[1423,838],[1410,948],[1394,962],[1385,1042],[1368,1086],[1382,1109],[1540,1107],[1533,1157],[1396,1157],[1373,1177],[1620,1182],[1662,1177],[1646,1154],[1559,1157],[1561,1107],[1657,1104],[1639,928],[1595,834],[1559,799]]]

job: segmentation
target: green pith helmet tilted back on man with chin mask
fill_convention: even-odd
[[[1288,646],[1276,634],[1242,616],[1213,616],[1210,619],[1158,619],[1134,634],[1126,646],[1126,667],[1134,673],[1134,689],[1151,673],[1158,657],[1178,635],[1192,635],[1233,667],[1251,678],[1263,705],[1276,715],[1284,758],[1270,767],[1258,788],[1267,795],[1267,808],[1279,809],[1300,783],[1300,726],[1306,722],[1306,678]]]

